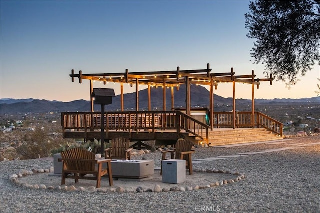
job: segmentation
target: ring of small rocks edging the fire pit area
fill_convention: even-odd
[[[210,169],[196,169],[193,170],[194,172],[207,172],[207,173],[225,173],[225,174],[232,174],[236,176],[235,178],[232,179],[224,179],[216,182],[212,182],[207,185],[195,185],[195,186],[187,186],[187,187],[171,187],[171,188],[161,188],[160,185],[156,184],[154,188],[143,188],[141,186],[137,187],[134,189],[133,187],[128,187],[128,188],[122,188],[122,187],[111,187],[108,189],[102,189],[102,188],[95,188],[94,186],[90,186],[87,188],[84,187],[78,187],[76,188],[74,185],[71,186],[46,186],[44,184],[29,184],[26,182],[20,182],[18,178],[21,178],[23,176],[29,176],[29,175],[35,175],[37,173],[50,173],[53,172],[53,167],[50,167],[49,169],[32,169],[31,171],[22,169],[19,171],[18,174],[12,174],[9,176],[9,179],[12,183],[22,186],[25,188],[32,188],[32,189],[47,189],[47,190],[55,190],[55,191],[87,191],[87,192],[118,192],[118,193],[123,193],[123,192],[128,192],[128,193],[141,193],[141,192],[169,192],[169,191],[192,191],[192,190],[199,190],[199,189],[206,189],[206,188],[212,188],[216,186],[221,186],[221,185],[226,185],[226,184],[231,184],[234,182],[238,182],[240,180],[245,179],[245,175],[239,173],[239,172],[230,172],[230,171],[222,171],[222,170],[210,170]]]

